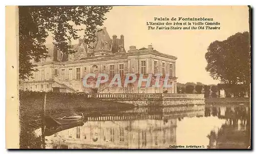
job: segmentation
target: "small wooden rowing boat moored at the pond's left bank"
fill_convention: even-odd
[[[65,116],[62,118],[45,117],[46,127],[55,127],[60,125],[70,125],[83,122],[83,114],[78,113],[72,116]]]

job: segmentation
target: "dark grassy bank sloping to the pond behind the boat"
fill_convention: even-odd
[[[20,115],[40,116],[44,97],[44,93],[23,92],[20,94]],[[91,114],[93,112],[118,111],[132,107],[131,104],[88,99],[81,94],[47,93],[46,99],[46,114],[54,117],[75,112]]]

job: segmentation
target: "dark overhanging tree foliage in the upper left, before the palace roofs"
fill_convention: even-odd
[[[32,76],[35,69],[32,60],[38,62],[48,56],[44,45],[53,33],[53,44],[63,53],[70,54],[68,40],[78,39],[78,31],[84,31],[84,42],[95,41],[97,26],[102,26],[104,14],[110,6],[19,6],[19,78]],[[75,29],[83,26],[85,29]],[[89,47],[93,48],[93,47]]]

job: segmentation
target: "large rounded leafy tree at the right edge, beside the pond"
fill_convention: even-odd
[[[207,53],[206,71],[214,79],[230,85],[249,87],[251,76],[250,35],[236,33],[226,40],[211,42]]]

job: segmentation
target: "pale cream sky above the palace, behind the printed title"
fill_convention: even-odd
[[[124,35],[124,47],[147,48],[152,43],[159,52],[178,57],[177,82],[218,84],[205,71],[207,47],[237,32],[249,31],[247,6],[115,6],[105,14],[104,26],[110,37]],[[220,23],[220,30],[148,30],[154,17],[206,17]],[[154,21],[156,22],[156,21]],[[81,34],[82,35],[82,34]],[[52,42],[49,35],[47,42]],[[77,40],[72,40],[76,43]]]

